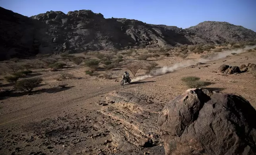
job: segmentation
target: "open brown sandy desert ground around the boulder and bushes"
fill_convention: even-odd
[[[147,49],[137,50],[138,53],[147,51]],[[120,55],[122,52],[118,51],[115,55]],[[108,53],[108,51],[101,51],[100,53]],[[91,59],[95,57],[82,53],[72,55]],[[133,55],[134,53],[131,56],[124,55],[124,62],[120,62],[120,66],[110,70],[99,69],[94,72],[97,73],[95,75],[85,74],[88,67],[83,63],[76,65],[72,61],[68,61],[66,67],[57,71],[52,71],[50,68],[30,69],[33,73],[24,78],[41,77],[43,79],[41,85],[31,93],[10,92],[13,87],[4,80],[4,76],[11,72],[6,67],[10,61],[1,62],[1,79],[3,79],[0,86],[1,92],[10,93],[2,93],[0,99],[0,154],[164,155],[165,151],[161,140],[157,141],[153,147],[140,147],[136,146],[137,139],[135,138],[134,142],[129,140],[133,144],[132,149],[120,148],[112,137],[114,131],[112,132],[106,124],[112,123],[114,128],[117,126],[124,128],[125,126],[121,127],[121,125],[127,122],[124,121],[125,119],[120,119],[121,116],[114,117],[113,114],[107,114],[107,109],[110,111],[114,106],[112,107],[106,97],[113,92],[124,92],[150,101],[156,106],[156,110],[152,112],[154,117],[151,119],[157,120],[157,115],[165,104],[188,89],[181,80],[182,77],[186,76],[196,76],[200,77],[200,80],[210,82],[210,85],[204,86],[207,89],[239,94],[256,108],[256,78],[252,73],[221,74],[218,72],[218,68],[222,64],[231,66],[255,64],[255,50],[231,54],[217,60],[209,60],[204,62],[205,64],[194,67],[178,68],[173,72],[140,81],[133,81],[133,79],[144,76],[145,70],[139,70],[134,77],[125,66],[133,63],[131,62],[134,58]],[[154,61],[158,64],[156,69],[160,69],[163,66],[173,66],[180,62],[194,61],[196,63],[201,55],[188,52],[184,59],[172,54],[168,57],[162,55],[157,58],[151,57],[144,62]],[[52,57],[60,57],[60,55]],[[23,64],[29,61],[19,60],[15,63]],[[124,71],[130,73],[132,82],[120,85]],[[61,72],[72,74],[73,77],[60,79]],[[104,73],[111,77],[104,78],[105,76],[101,76]],[[65,87],[59,87],[59,85],[64,84]],[[122,111],[122,113],[126,112],[129,112],[129,108]],[[119,114],[122,115],[122,113]],[[142,119],[140,123],[143,125],[148,122]],[[130,122],[130,125],[136,126],[136,123]],[[134,132],[133,135],[136,137]]]

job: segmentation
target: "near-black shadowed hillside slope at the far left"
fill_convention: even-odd
[[[0,60],[29,57],[48,51],[45,24],[0,7]]]

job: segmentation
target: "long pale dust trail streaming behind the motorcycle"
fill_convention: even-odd
[[[196,64],[197,62],[204,63],[204,62],[209,62],[209,61],[212,61],[212,60],[222,59],[222,58],[227,57],[228,55],[231,55],[231,53],[242,53],[242,52],[245,52],[247,49],[254,49],[255,47],[256,47],[256,45],[246,46],[243,49],[228,50],[228,51],[223,51],[223,52],[219,52],[219,53],[214,53],[214,55],[212,55],[211,58],[208,58],[208,59],[187,60],[185,62],[176,63],[173,66],[164,66],[160,69],[154,70],[150,74],[136,77],[136,78],[132,79],[131,82],[136,82],[136,81],[144,80],[144,79],[151,78],[151,77],[154,77],[154,76],[167,74],[169,72],[173,72],[173,71],[178,70],[180,68],[185,68],[187,66]]]

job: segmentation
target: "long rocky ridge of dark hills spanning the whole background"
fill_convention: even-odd
[[[47,11],[25,17],[0,8],[0,60],[67,50],[172,47],[256,39],[256,32],[225,22],[203,22],[182,29],[134,19],[105,19],[91,10]]]

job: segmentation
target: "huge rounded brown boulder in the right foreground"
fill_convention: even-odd
[[[166,155],[255,155],[256,110],[241,96],[189,89],[157,124]]]

